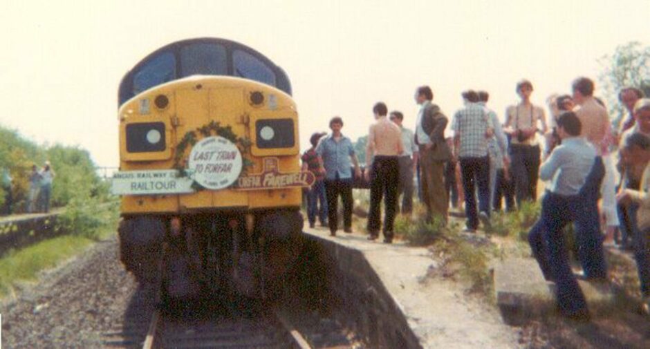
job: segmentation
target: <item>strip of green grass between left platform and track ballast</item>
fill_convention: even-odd
[[[15,295],[19,285],[37,280],[40,272],[56,267],[98,240],[115,234],[119,214],[113,202],[99,208],[71,209],[73,211],[62,216],[69,218],[63,218],[57,227],[64,229],[64,235],[11,250],[0,258],[0,299]]]

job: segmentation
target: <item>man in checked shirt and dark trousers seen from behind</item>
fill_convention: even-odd
[[[490,225],[490,161],[488,160],[488,142],[494,129],[490,125],[488,112],[478,104],[476,91],[463,93],[465,107],[456,111],[452,121],[454,130],[454,156],[461,162],[463,191],[465,192],[465,216],[467,230],[474,232],[483,225]],[[474,185],[479,185],[479,214],[476,214]]]

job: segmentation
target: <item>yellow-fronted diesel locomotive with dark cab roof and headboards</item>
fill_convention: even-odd
[[[261,53],[214,38],[174,42],[119,88],[120,258],[163,294],[266,296],[299,250],[298,114]]]

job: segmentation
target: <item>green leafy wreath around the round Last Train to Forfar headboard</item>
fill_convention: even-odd
[[[201,138],[210,137],[211,135],[219,135],[227,140],[230,140],[230,142],[233,142],[236,145],[237,149],[239,149],[239,152],[242,154],[241,172],[245,174],[246,169],[252,166],[253,162],[243,156],[243,154],[250,153],[250,146],[252,142],[250,142],[248,138],[237,137],[236,133],[232,131],[231,126],[222,127],[219,122],[212,120],[209,123],[196,128],[194,131],[187,131],[187,133],[185,133],[183,136],[183,139],[181,139],[180,142],[178,142],[176,145],[176,152],[174,154],[174,169],[178,170],[179,177],[187,177],[188,175],[184,159],[185,151],[187,150],[187,147],[194,147],[194,144],[200,140],[198,138],[198,135],[203,136]],[[203,189],[203,186],[199,185],[196,182],[192,184],[192,187],[194,187],[194,189]]]

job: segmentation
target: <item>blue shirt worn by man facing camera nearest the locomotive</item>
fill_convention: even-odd
[[[316,153],[323,159],[325,178],[328,180],[352,178],[352,155],[355,155],[352,141],[344,135],[336,142],[332,134],[321,138],[316,146]]]

